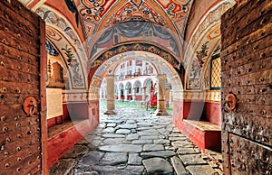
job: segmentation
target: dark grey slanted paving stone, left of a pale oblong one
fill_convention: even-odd
[[[83,165],[97,165],[99,161],[102,159],[104,152],[92,151],[88,152],[80,159],[79,163]]]

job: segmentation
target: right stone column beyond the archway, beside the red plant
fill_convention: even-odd
[[[166,111],[166,75],[158,75],[158,96],[157,96],[157,110],[155,115],[168,115]]]

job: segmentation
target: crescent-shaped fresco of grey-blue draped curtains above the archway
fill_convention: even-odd
[[[150,34],[151,33],[151,34]],[[177,57],[180,57],[179,43],[176,41],[174,34],[160,25],[146,22],[127,22],[119,23],[102,33],[100,38],[93,43],[91,49],[91,60],[97,53],[99,48],[104,48],[104,45],[112,46],[112,39],[115,35],[119,35],[120,41],[146,41],[154,42],[158,45],[166,46],[173,51]],[[115,44],[118,44],[115,43]]]

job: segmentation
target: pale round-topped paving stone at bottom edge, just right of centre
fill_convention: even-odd
[[[170,162],[161,158],[143,160],[142,163],[148,174],[170,174],[173,172]]]

